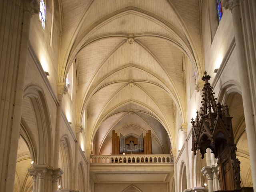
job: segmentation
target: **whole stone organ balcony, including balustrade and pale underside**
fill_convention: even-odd
[[[169,182],[174,174],[170,154],[93,155],[90,175],[95,183]]]

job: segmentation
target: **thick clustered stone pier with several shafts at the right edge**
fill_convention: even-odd
[[[251,57],[248,56],[248,54],[250,53],[250,50],[253,49],[253,46],[251,46],[250,41],[252,42],[254,41],[253,39],[251,40],[247,39],[248,31],[246,30],[246,28],[243,28],[243,26],[246,26],[246,20],[248,21],[250,17],[242,19],[242,13],[240,11],[242,3],[244,6],[248,3],[251,3],[252,5],[255,6],[254,0],[252,1],[223,0],[223,7],[225,7],[225,9],[231,10],[232,12],[234,36],[236,40],[236,52],[237,52],[240,83],[241,83],[241,90],[242,90],[242,99],[243,99],[243,106],[244,106],[244,119],[246,124],[246,132],[248,133],[247,139],[248,139],[248,147],[249,147],[250,162],[251,162],[251,169],[252,169],[252,183],[255,189],[256,188],[256,164],[255,164],[256,162],[256,118],[255,118],[256,108],[254,107],[256,104],[255,103],[256,101],[254,100],[255,71],[252,72],[251,76],[249,76],[249,74],[251,73],[250,71],[252,69],[255,69],[255,53],[253,53]],[[252,7],[252,9],[255,10],[255,7]],[[247,11],[250,12],[250,10],[247,10]],[[252,17],[256,18],[255,13],[252,14]],[[252,25],[253,25],[253,22],[252,22]],[[255,24],[254,24],[254,32],[255,32]],[[246,47],[247,49],[245,49]],[[252,58],[253,56],[254,58]],[[246,58],[247,58],[247,61],[246,61]]]

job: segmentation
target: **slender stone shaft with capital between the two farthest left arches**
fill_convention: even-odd
[[[82,133],[82,131],[83,131],[82,125],[76,125],[75,184],[74,184],[75,190],[78,190],[78,164],[79,164],[78,154],[79,154],[79,145],[80,145],[79,136],[80,136],[80,133]]]

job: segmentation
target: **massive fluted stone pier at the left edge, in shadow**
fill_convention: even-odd
[[[30,18],[36,0],[0,1],[0,191],[14,190]]]

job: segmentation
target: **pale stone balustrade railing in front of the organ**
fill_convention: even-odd
[[[93,155],[90,164],[173,164],[170,154]]]

